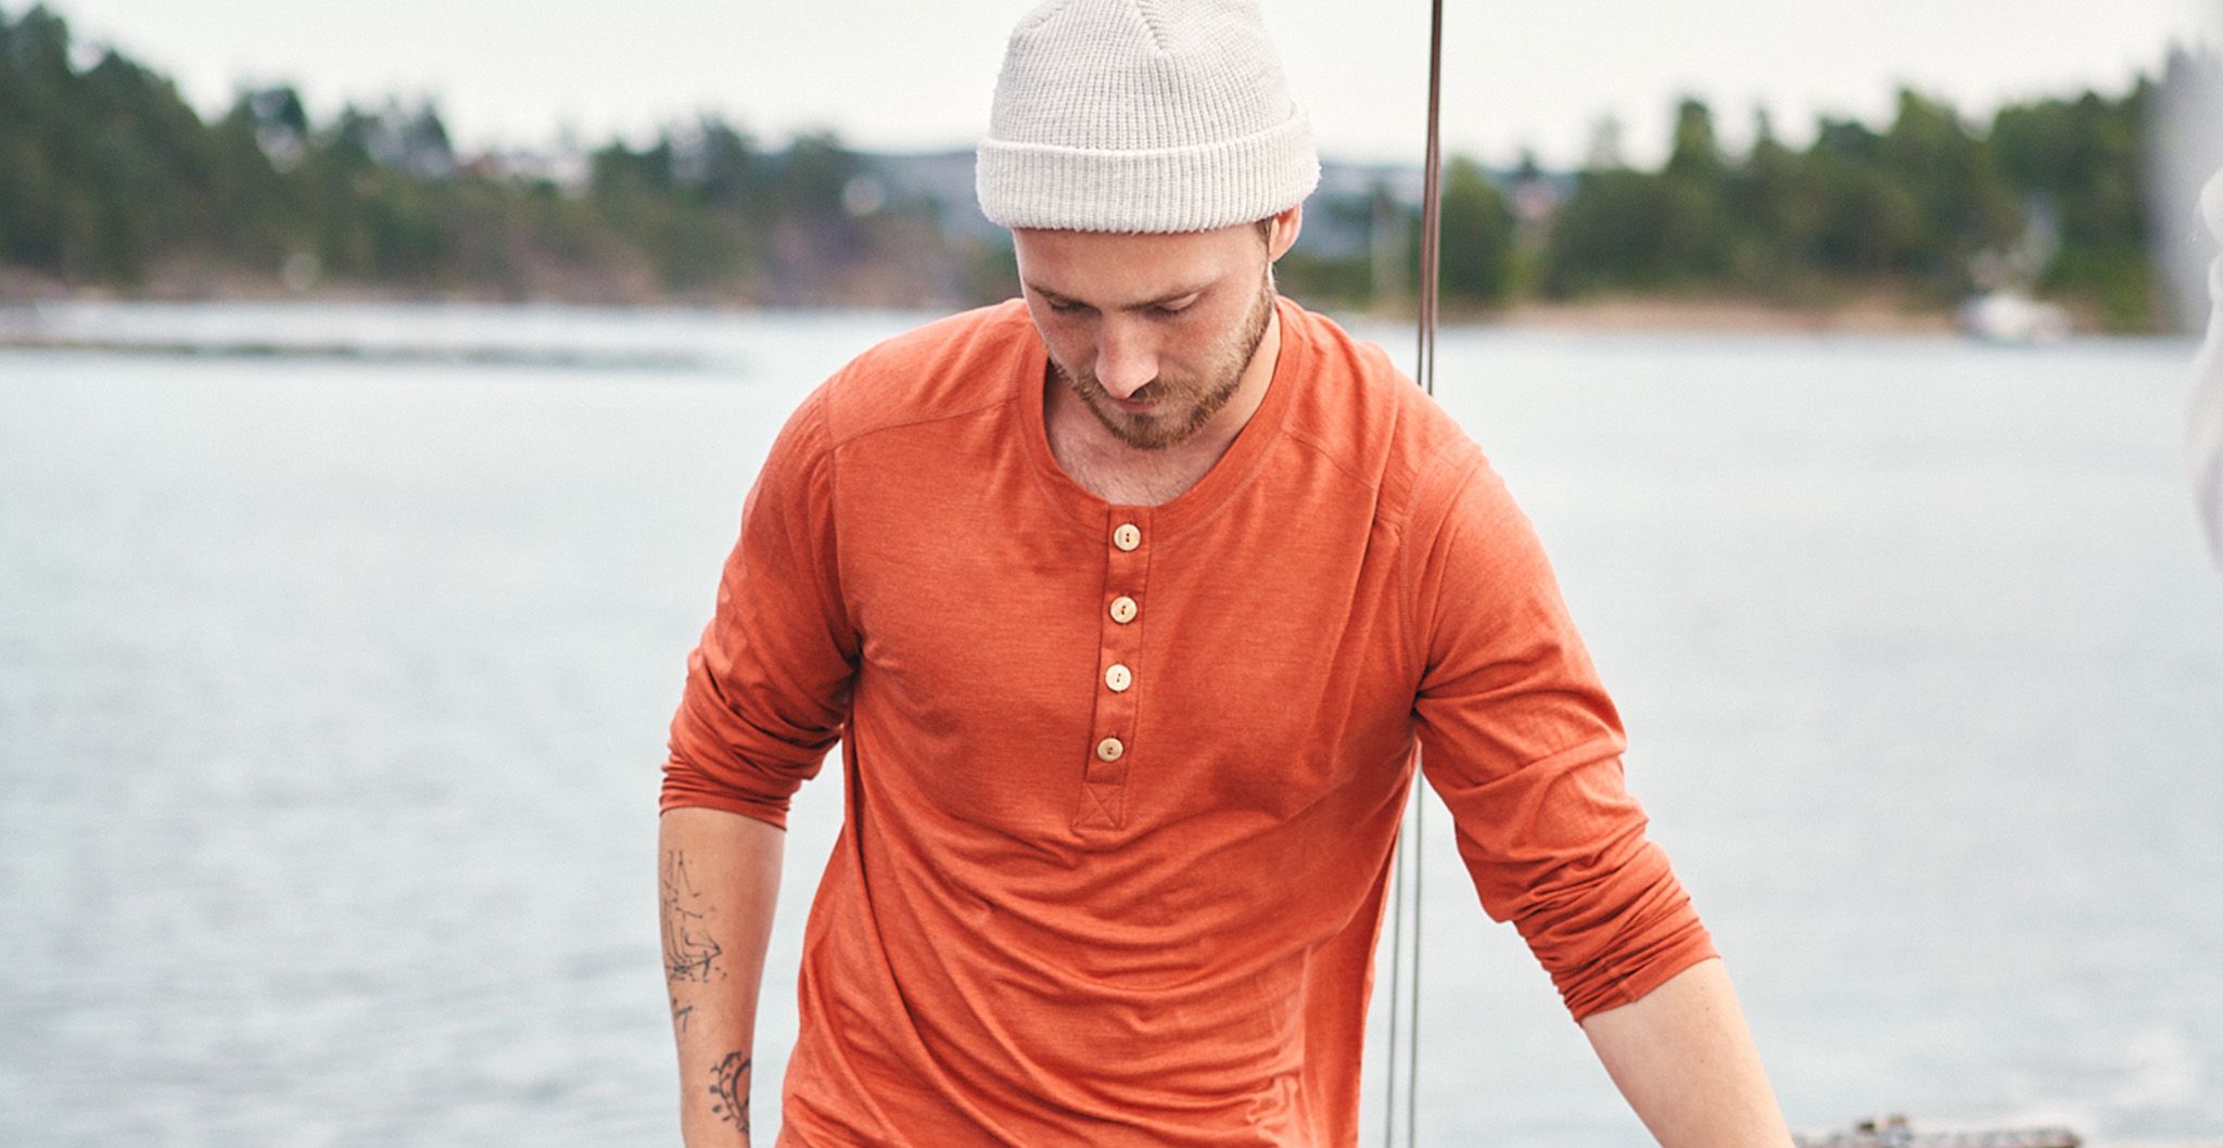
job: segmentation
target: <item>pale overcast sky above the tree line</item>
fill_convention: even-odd
[[[22,13],[29,0],[0,0]],[[49,0],[80,38],[169,73],[202,111],[291,82],[318,118],[431,98],[467,151],[549,147],[718,113],[760,140],[831,129],[854,147],[971,147],[1011,24],[1034,0]],[[1320,151],[1418,162],[1427,4],[1263,0]],[[1665,153],[1683,93],[1732,147],[1754,107],[1803,142],[1818,113],[1885,122],[1898,87],[1987,115],[2001,102],[2154,71],[2223,42],[2223,0],[1452,0],[1445,147],[1576,164],[1596,124]]]

